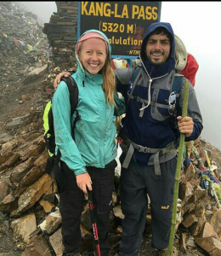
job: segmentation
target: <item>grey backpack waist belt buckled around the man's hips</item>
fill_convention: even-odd
[[[142,153],[155,154],[154,166],[155,166],[156,175],[161,175],[160,154],[174,154],[177,150],[177,148],[175,148],[174,143],[169,143],[166,148],[147,148],[139,144],[133,143],[130,140],[128,141],[130,143],[130,146],[128,148],[125,160],[123,161],[122,167],[127,169],[133,157],[134,148],[136,148],[139,152],[142,152]]]

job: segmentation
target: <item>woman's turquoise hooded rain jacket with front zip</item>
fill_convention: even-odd
[[[88,32],[101,34],[111,55],[111,45],[105,34],[96,30]],[[79,90],[77,111],[81,116],[74,131],[75,141],[71,137],[71,124],[73,125],[76,113],[70,119],[70,96],[64,81],[59,84],[54,94],[52,107],[55,143],[61,153],[60,159],[78,175],[87,172],[86,166],[104,168],[116,158],[116,126],[113,121],[115,108],[105,101],[101,74],[88,73],[82,68],[80,61],[77,61],[77,72],[72,74],[72,78],[76,80]],[[117,93],[115,100],[119,103]],[[121,102],[118,104],[118,111],[124,112],[124,105],[122,109],[119,106]]]

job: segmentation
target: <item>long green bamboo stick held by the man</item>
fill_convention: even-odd
[[[186,81],[184,82],[184,99],[183,99],[183,108],[182,108],[183,118],[187,116],[188,94],[189,94],[189,83],[188,81]],[[175,183],[174,183],[174,193],[173,193],[173,212],[172,212],[172,222],[171,222],[167,256],[171,256],[173,252],[173,240],[175,236],[176,218],[177,218],[178,184],[179,184],[179,178],[180,178],[181,164],[183,160],[184,138],[185,138],[184,133],[181,133],[179,144],[178,144],[178,161],[177,161],[176,172],[175,172]]]

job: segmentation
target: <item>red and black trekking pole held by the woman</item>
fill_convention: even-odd
[[[96,224],[96,216],[95,216],[95,208],[94,208],[94,202],[93,202],[93,194],[92,191],[88,189],[88,205],[90,209],[90,217],[91,217],[91,223],[93,227],[93,233],[94,233],[94,242],[96,247],[96,256],[101,256],[100,250],[99,250],[99,234],[98,234],[98,228]]]

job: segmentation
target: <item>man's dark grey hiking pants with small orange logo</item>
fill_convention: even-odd
[[[122,162],[122,160],[121,160]],[[121,172],[121,201],[125,218],[122,221],[120,256],[137,256],[142,243],[150,196],[152,247],[168,246],[173,202],[176,157],[161,166],[161,176],[154,166],[139,166],[131,161]]]

